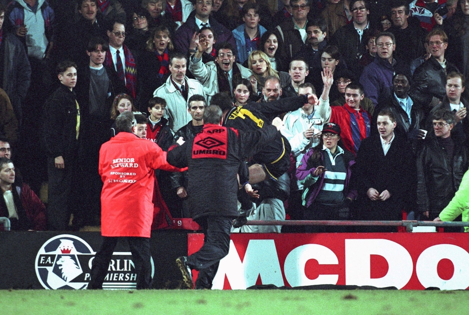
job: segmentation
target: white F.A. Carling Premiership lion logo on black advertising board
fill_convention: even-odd
[[[52,237],[36,255],[36,275],[45,289],[86,289],[95,254],[80,237],[68,234]],[[154,270],[151,258],[151,276]],[[137,274],[130,252],[113,253],[104,281],[104,289],[135,289]]]

